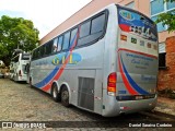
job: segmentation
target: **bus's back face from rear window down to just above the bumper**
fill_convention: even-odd
[[[118,69],[127,88],[116,95],[155,94],[158,75],[156,26],[144,15],[118,7]],[[125,37],[125,38],[124,38]],[[120,94],[119,94],[120,93]]]

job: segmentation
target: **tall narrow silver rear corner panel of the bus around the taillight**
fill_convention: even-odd
[[[107,79],[108,75],[117,71],[117,56],[116,50],[118,48],[117,37],[118,37],[118,24],[116,15],[116,5],[110,5],[108,8],[108,26],[105,36],[105,51],[104,51],[104,75],[103,75],[103,103],[102,103],[102,115],[110,116],[110,112],[119,115],[119,105],[116,104],[115,96],[107,95]],[[114,112],[115,111],[115,112]]]

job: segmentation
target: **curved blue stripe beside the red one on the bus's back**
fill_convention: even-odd
[[[129,75],[128,71],[127,71],[126,68],[125,68],[125,64],[124,64],[122,59],[121,59],[121,63],[122,63],[122,67],[124,67],[124,72],[125,72],[125,74],[126,74],[129,83],[131,84],[131,86],[132,86],[138,93],[140,93],[140,94],[142,94],[142,95],[148,95],[149,93],[148,93],[147,91],[142,90],[142,88],[131,79],[131,76]]]

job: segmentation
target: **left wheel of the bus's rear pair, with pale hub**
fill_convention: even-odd
[[[59,102],[60,100],[60,95],[58,93],[58,87],[56,84],[52,84],[51,86],[51,97],[55,102]]]

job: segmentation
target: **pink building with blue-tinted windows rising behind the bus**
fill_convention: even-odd
[[[40,39],[40,44],[48,41],[49,39],[56,37],[60,31],[67,29],[69,26],[73,26],[74,24],[79,23],[81,20],[89,16],[100,9],[110,4],[117,3],[128,8],[132,8],[138,10],[153,21],[158,19],[158,15],[164,12],[168,12],[175,9],[175,2],[164,3],[164,0],[92,0],[89,4],[83,7],[80,11],[74,13],[70,16],[67,21],[62,24],[58,25],[54,28],[50,33],[48,33],[45,37]],[[159,32],[159,47],[160,47],[160,72],[161,70],[166,69],[166,49],[165,49],[165,40],[167,37],[175,36],[174,33],[167,32],[167,26],[163,26],[162,23],[158,24],[158,32]],[[162,75],[161,75],[162,76]],[[175,79],[175,78],[174,78]],[[175,88],[175,87],[174,87]]]

